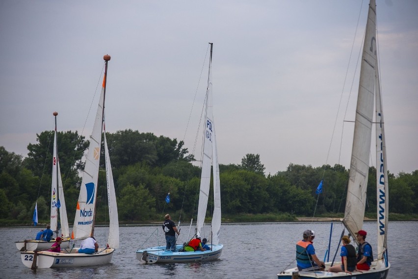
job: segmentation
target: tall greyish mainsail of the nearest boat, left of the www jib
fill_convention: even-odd
[[[343,223],[354,235],[363,227],[376,78],[376,3],[370,1],[357,99],[353,149]]]

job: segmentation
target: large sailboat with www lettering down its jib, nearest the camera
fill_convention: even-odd
[[[371,263],[368,271],[354,271],[352,275],[345,272],[328,272],[331,265],[341,265],[341,262],[325,263],[325,271],[298,271],[292,268],[278,274],[283,278],[356,278],[356,279],[385,279],[391,264],[388,260],[388,169],[386,163],[386,143],[383,121],[382,96],[379,82],[379,65],[376,40],[376,1],[370,0],[366,35],[360,72],[360,85],[357,99],[356,120],[354,126],[353,148],[349,172],[347,199],[342,224],[350,235],[355,235],[363,228],[366,207],[366,190],[369,170],[369,155],[371,144],[371,130],[373,124],[373,106],[375,105],[376,119],[376,193],[377,193],[377,259]],[[357,245],[359,242],[356,238]]]

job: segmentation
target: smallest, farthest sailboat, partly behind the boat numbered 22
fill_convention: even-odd
[[[53,157],[52,157],[52,183],[51,183],[51,218],[50,226],[52,231],[56,232],[56,236],[62,239],[61,247],[70,247],[70,229],[68,228],[67,210],[65,207],[64,190],[62,187],[61,172],[59,169],[58,147],[57,147],[57,132],[56,132],[56,116],[57,112],[53,113],[55,118],[55,131],[53,141]],[[58,215],[61,222],[61,235],[58,235]],[[16,248],[19,251],[34,251],[49,249],[52,246],[51,242],[43,240],[23,240],[16,241]]]

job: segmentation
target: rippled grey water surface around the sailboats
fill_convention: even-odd
[[[337,250],[338,238],[343,229],[339,223],[334,224],[332,237],[332,260]],[[319,259],[323,260],[328,248],[330,223],[263,223],[263,224],[224,224],[221,228],[223,253],[219,260],[206,263],[183,264],[150,264],[140,265],[135,251],[147,241],[158,228],[159,244],[165,243],[160,226],[139,226],[120,228],[120,248],[113,254],[110,264],[73,269],[38,269],[33,272],[26,268],[20,258],[14,241],[28,237],[28,228],[1,228],[0,239],[3,248],[0,250],[0,278],[277,278],[277,273],[296,265],[295,243],[301,238],[305,229],[313,229],[316,237],[314,247]],[[188,227],[182,226],[178,243],[185,241]],[[389,231],[389,260],[392,267],[390,279],[417,278],[416,256],[417,244],[411,242],[416,238],[418,222],[392,222]],[[373,246],[376,254],[376,230],[374,222],[367,222],[364,229],[369,234],[367,241]],[[32,230],[35,235],[37,230]],[[96,228],[95,236],[101,247],[105,244],[107,228]],[[152,236],[145,247],[155,246],[157,236]],[[411,243],[414,247],[411,247]],[[409,249],[408,249],[409,248]],[[412,248],[412,249],[411,249]],[[338,259],[339,256],[337,256]],[[409,264],[407,264],[409,263]]]

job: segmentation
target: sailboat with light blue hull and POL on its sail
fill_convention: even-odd
[[[203,139],[202,173],[200,180],[199,207],[196,221],[196,235],[202,235],[202,228],[205,223],[206,210],[208,207],[210,177],[213,173],[213,198],[214,208],[212,216],[211,244],[207,244],[210,250],[179,252],[183,245],[176,246],[176,252],[165,250],[166,246],[157,246],[136,251],[136,257],[140,263],[177,263],[192,261],[209,261],[221,256],[223,245],[219,244],[221,228],[221,194],[219,180],[219,163],[216,149],[215,122],[213,120],[212,106],[212,49],[210,44],[208,87],[206,91],[206,119]],[[211,172],[213,170],[213,172]]]

